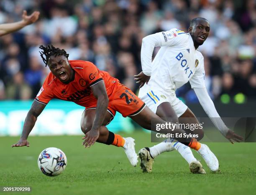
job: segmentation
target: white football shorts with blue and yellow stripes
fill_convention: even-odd
[[[187,105],[177,98],[174,90],[166,92],[161,89],[151,90],[148,87],[142,87],[138,97],[144,101],[154,113],[156,113],[157,107],[163,102],[169,102],[178,117],[187,110]]]

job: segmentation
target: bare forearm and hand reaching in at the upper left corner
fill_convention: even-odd
[[[26,25],[30,25],[38,20],[40,12],[35,11],[31,15],[27,15],[27,11],[24,10],[22,14],[22,20],[15,23],[0,24],[0,36],[13,33]]]

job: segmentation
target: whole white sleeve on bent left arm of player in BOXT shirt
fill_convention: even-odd
[[[155,47],[185,45],[184,34],[182,30],[173,28],[171,30],[148,35],[142,39],[141,45],[141,66],[142,71],[147,76],[151,75],[152,54]],[[187,35],[186,35],[187,36]]]

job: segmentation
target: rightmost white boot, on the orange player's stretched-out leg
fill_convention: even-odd
[[[205,145],[201,144],[201,147],[199,150],[197,150],[197,153],[201,155],[201,157],[205,160],[206,165],[210,168],[211,171],[215,172],[219,169],[219,162],[217,157],[212,153],[210,148]]]

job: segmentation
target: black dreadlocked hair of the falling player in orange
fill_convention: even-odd
[[[42,49],[43,51],[39,51],[41,58],[43,59],[45,66],[47,66],[47,62],[50,58],[50,56],[61,56],[64,55],[68,59],[69,54],[64,50],[60,48],[55,48],[53,45],[47,45],[46,47],[40,46],[39,49]],[[45,57],[44,57],[45,56]]]

